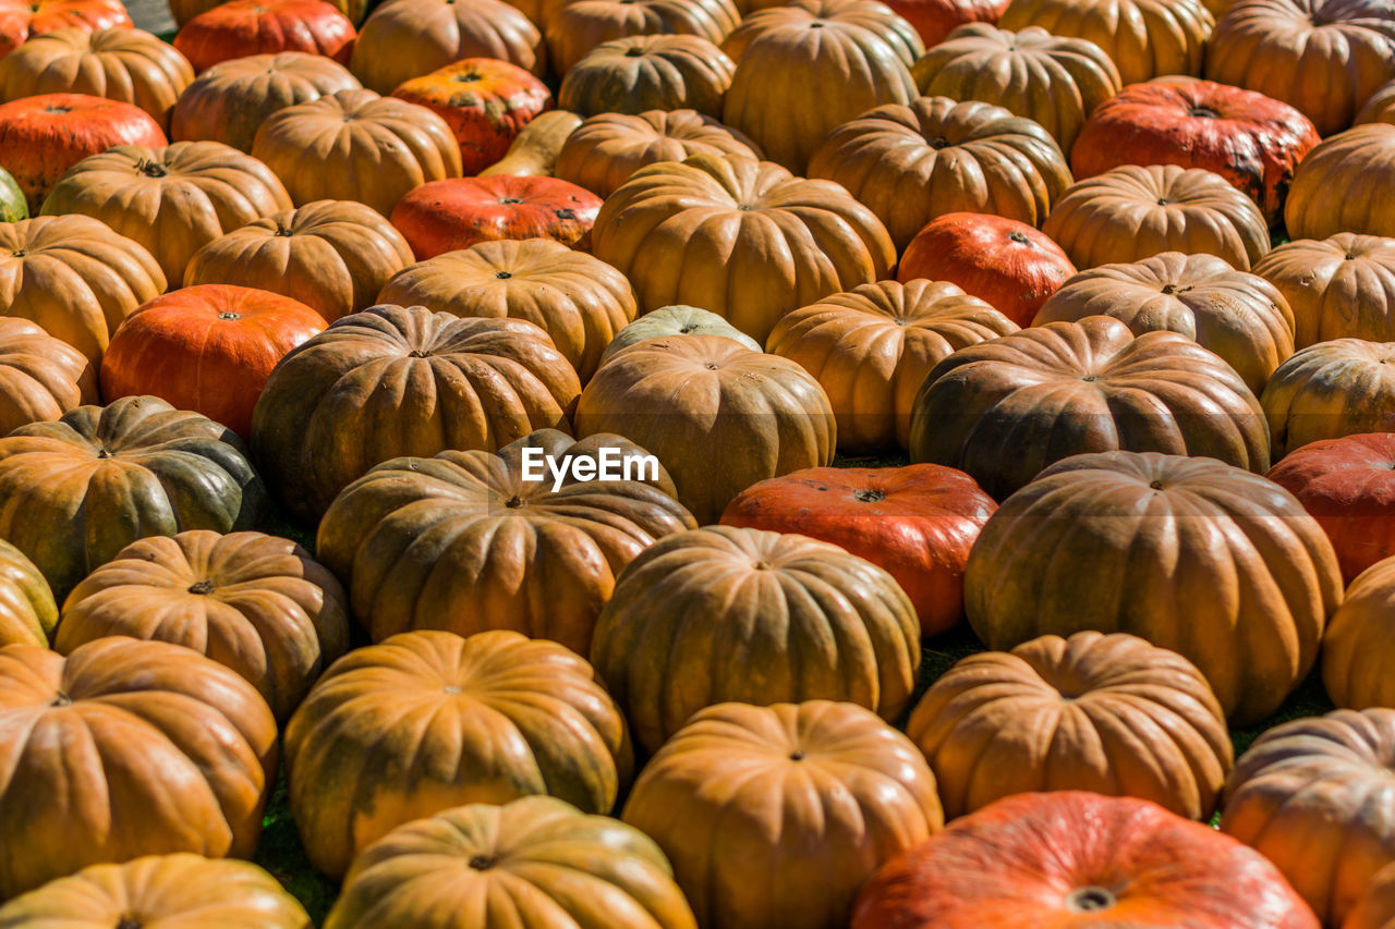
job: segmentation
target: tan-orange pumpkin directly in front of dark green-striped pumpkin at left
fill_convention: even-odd
[[[71,654],[113,635],[173,642],[236,671],[283,723],[349,647],[347,601],[335,576],[289,538],[152,536],[73,589],[54,649]]]

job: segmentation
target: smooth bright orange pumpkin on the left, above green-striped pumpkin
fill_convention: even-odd
[[[159,396],[247,438],[272,368],[324,328],[318,312],[268,290],[232,285],[174,290],[117,328],[102,356],[102,395],[109,402]]]

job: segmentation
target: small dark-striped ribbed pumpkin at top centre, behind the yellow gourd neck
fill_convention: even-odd
[[[717,119],[737,66],[699,35],[635,35],[601,42],[562,78],[562,109],[639,114],[698,110]]]

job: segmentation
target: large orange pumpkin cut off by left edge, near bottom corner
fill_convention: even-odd
[[[257,848],[276,721],[250,683],[201,654],[124,636],[66,658],[7,646],[0,728],[13,734],[0,834],[24,849],[0,859],[0,898],[99,862]]]

